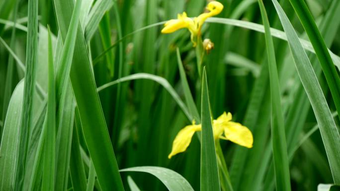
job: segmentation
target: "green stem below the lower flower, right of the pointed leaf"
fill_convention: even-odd
[[[217,163],[219,167],[221,188],[223,191],[234,191],[231,185],[231,182],[230,182],[230,176],[229,176],[226,161],[224,160],[224,155],[222,152],[220,140],[216,140],[215,148],[216,148],[216,154],[217,154]]]

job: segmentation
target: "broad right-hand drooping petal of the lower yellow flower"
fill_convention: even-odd
[[[239,123],[228,122],[227,126],[224,128],[224,135],[226,139],[241,146],[248,148],[253,147],[252,132],[247,127],[242,126]]]

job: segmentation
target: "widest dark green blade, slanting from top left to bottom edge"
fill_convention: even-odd
[[[65,39],[73,3],[54,0],[61,36]],[[85,142],[93,161],[98,182],[103,191],[123,191],[117,161],[109,139],[105,119],[99,103],[94,76],[89,62],[83,29],[79,27],[70,78],[79,109]],[[93,128],[96,127],[96,128]]]

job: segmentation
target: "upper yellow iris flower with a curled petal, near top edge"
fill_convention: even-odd
[[[187,17],[186,12],[177,15],[177,19],[171,19],[164,24],[162,33],[172,33],[181,28],[187,28],[191,33],[191,41],[196,45],[194,37],[200,35],[204,21],[214,15],[219,14],[223,9],[223,4],[218,1],[211,1],[206,7],[209,12],[202,13],[193,19]]]

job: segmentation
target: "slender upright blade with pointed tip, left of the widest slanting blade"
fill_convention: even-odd
[[[48,27],[48,93],[42,191],[54,191],[56,158],[56,92],[51,30]]]

